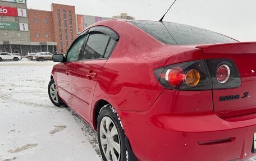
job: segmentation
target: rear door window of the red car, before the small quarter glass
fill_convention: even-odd
[[[105,34],[91,34],[86,43],[82,59],[100,59],[104,58],[104,53],[109,41]]]

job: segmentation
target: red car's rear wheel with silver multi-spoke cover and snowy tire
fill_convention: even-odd
[[[116,110],[110,104],[100,110],[97,129],[99,149],[103,160],[127,160],[125,132]],[[112,158],[114,155],[116,159]]]

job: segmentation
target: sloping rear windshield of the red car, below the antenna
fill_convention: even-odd
[[[234,39],[199,27],[158,21],[129,21],[164,44],[234,43]]]

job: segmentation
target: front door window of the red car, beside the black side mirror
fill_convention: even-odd
[[[78,61],[81,47],[84,43],[86,35],[81,35],[76,41],[72,44],[67,53],[67,62]]]

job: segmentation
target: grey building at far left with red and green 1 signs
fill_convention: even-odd
[[[26,0],[0,0],[0,52],[54,52],[57,43],[30,39]]]

